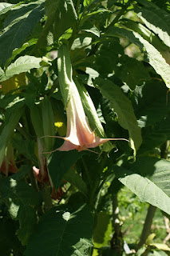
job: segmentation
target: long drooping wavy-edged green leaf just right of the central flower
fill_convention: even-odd
[[[131,102],[125,94],[123,94],[121,88],[116,86],[113,82],[102,78],[96,78],[95,82],[97,86],[99,86],[101,94],[109,99],[110,106],[117,113],[117,121],[119,124],[124,129],[128,130],[131,147],[136,153],[136,150],[140,147],[142,139],[140,127],[137,125]]]

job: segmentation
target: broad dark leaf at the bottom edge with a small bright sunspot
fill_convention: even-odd
[[[38,223],[26,248],[26,256],[88,256],[93,218],[85,205],[77,209],[53,207]]]

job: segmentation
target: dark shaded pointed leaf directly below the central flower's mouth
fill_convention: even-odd
[[[74,162],[76,162],[85,152],[71,150],[68,152],[57,151],[49,158],[48,169],[52,179],[54,189],[60,186],[64,175],[69,171]]]

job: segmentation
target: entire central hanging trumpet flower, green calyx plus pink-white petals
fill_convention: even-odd
[[[57,150],[78,150],[80,152],[81,150],[89,150],[90,148],[99,146],[109,140],[128,141],[125,138],[99,138],[89,127],[80,94],[77,90],[77,86],[73,82],[69,49],[65,44],[58,50],[57,66],[61,94],[64,98],[67,114],[66,137],[55,136],[56,138],[65,140],[63,145],[57,148]]]

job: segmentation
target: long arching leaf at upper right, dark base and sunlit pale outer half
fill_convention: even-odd
[[[128,38],[130,42],[133,42],[138,46],[141,52],[144,53],[144,61],[148,62],[157,74],[163,78],[166,86],[170,87],[170,66],[162,57],[160,52],[156,50],[152,44],[146,41],[144,38],[137,34],[125,29],[120,29],[118,27],[111,27],[106,33],[105,36],[114,36],[114,37],[125,37]]]

